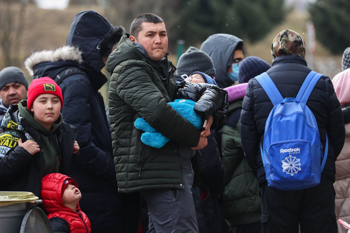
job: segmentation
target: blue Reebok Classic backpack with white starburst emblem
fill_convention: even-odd
[[[311,71],[296,98],[285,99],[266,72],[255,77],[274,105],[266,120],[264,141],[260,145],[269,187],[293,191],[320,183],[328,154],[328,137],[326,134],[322,156],[316,118],[306,102],[321,77],[322,74]]]

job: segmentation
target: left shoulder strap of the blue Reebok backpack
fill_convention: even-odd
[[[273,105],[277,105],[282,103],[283,97],[281,93],[278,91],[275,83],[273,83],[272,79],[266,72],[258,75],[255,79],[260,83],[262,89],[265,90],[267,96],[270,98]]]

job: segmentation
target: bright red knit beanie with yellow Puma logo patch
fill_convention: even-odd
[[[62,90],[57,83],[49,77],[34,79],[28,88],[27,107],[30,111],[31,105],[38,95],[53,94],[61,100],[61,109],[63,107]]]

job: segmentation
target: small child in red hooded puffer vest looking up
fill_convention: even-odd
[[[40,197],[54,233],[91,233],[90,220],[79,207],[82,194],[71,177],[60,173],[44,176]]]

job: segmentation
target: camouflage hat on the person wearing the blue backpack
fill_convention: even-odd
[[[293,54],[305,58],[305,49],[305,41],[299,34],[290,29],[282,30],[272,41],[272,61],[276,57]]]

